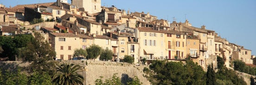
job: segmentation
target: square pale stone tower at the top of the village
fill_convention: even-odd
[[[71,0],[71,4],[84,8],[89,14],[101,12],[101,0]]]

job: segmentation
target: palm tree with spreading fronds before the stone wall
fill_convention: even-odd
[[[58,85],[83,85],[83,75],[81,66],[63,63],[57,65],[57,73],[53,76],[53,82]]]

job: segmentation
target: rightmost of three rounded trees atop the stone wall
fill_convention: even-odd
[[[104,49],[102,50],[102,53],[100,55],[100,60],[101,61],[109,61],[112,59],[113,52],[110,49]]]

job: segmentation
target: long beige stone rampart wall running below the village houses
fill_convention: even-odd
[[[134,78],[137,76],[143,85],[150,85],[150,82],[143,77],[143,68],[145,66],[135,66],[129,63],[124,62],[111,62],[111,61],[80,61],[80,60],[66,60],[66,61],[57,61],[58,63],[74,63],[80,66],[83,66],[84,71],[80,72],[84,76],[84,85],[94,85],[96,79],[102,80],[109,79],[113,74],[117,73],[122,82],[127,82],[128,78]],[[88,63],[86,65],[86,62]],[[3,61],[0,62],[1,67],[13,69],[17,66],[26,67],[29,63],[22,63],[21,61]]]

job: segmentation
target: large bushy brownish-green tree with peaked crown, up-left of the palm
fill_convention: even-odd
[[[26,48],[23,48],[19,56],[23,58],[24,62],[32,62],[27,70],[39,73],[49,72],[52,75],[54,71],[52,67],[55,66],[53,57],[56,56],[56,53],[40,33],[35,33],[34,36],[35,39],[29,42]]]

